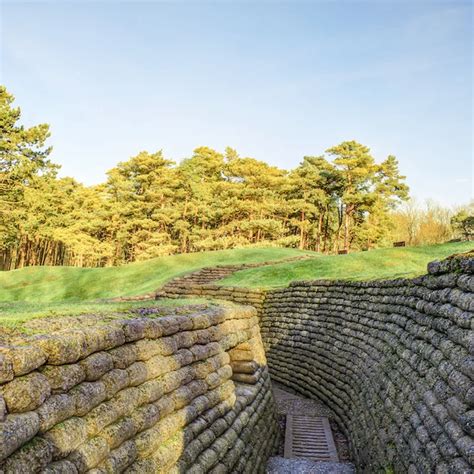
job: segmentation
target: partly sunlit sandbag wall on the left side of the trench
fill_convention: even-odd
[[[254,308],[0,349],[0,472],[263,472],[278,442]]]

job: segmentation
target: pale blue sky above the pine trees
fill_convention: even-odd
[[[420,201],[474,196],[470,1],[0,2],[0,82],[62,176],[198,146],[291,169],[357,140]]]

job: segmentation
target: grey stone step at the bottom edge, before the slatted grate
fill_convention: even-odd
[[[267,474],[355,474],[356,470],[351,463],[273,456],[268,460],[265,472]]]

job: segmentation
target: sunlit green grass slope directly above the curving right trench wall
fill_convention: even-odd
[[[243,270],[222,280],[229,286],[277,288],[295,280],[373,280],[414,277],[426,273],[426,265],[453,253],[466,252],[473,242],[423,247],[405,247],[357,252],[349,255],[319,256],[310,260]]]

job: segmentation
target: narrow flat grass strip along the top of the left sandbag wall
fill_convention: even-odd
[[[106,316],[117,313],[129,313],[141,308],[175,308],[183,305],[209,303],[204,298],[162,299],[127,302],[83,302],[83,303],[0,303],[0,326],[22,331],[22,325],[39,318],[55,318],[62,316],[80,316],[94,314]]]

